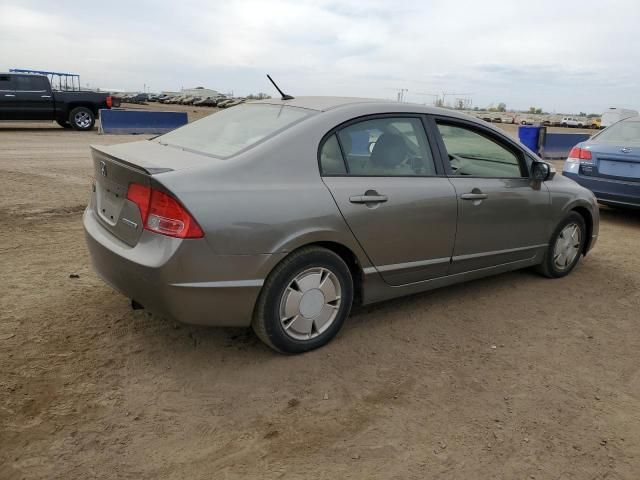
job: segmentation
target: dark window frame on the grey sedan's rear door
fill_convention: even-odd
[[[317,153],[317,157],[318,157],[318,169],[320,171],[320,175],[323,177],[355,177],[356,175],[351,175],[350,174],[350,170],[349,170],[349,162],[346,161],[346,155],[344,154],[344,147],[342,146],[342,142],[340,141],[340,135],[338,135],[338,131],[349,127],[350,125],[354,125],[356,123],[360,123],[360,122],[366,122],[368,120],[377,120],[377,119],[381,119],[381,118],[413,118],[416,119],[420,122],[420,124],[422,125],[422,128],[424,129],[424,134],[427,137],[427,143],[428,143],[428,147],[429,147],[429,151],[431,153],[431,158],[433,159],[433,163],[436,169],[436,174],[435,175],[398,175],[395,178],[433,178],[433,177],[446,177],[448,175],[446,169],[444,168],[443,164],[442,164],[442,159],[440,158],[440,152],[439,152],[439,148],[437,147],[436,143],[434,143],[434,138],[433,138],[433,134],[429,132],[429,129],[427,128],[427,125],[425,124],[425,118],[427,117],[427,115],[423,114],[423,113],[410,113],[410,112],[397,112],[397,113],[377,113],[377,114],[370,114],[370,115],[362,115],[360,117],[354,117],[352,119],[349,119],[345,122],[342,122],[339,125],[336,125],[335,127],[333,127],[331,130],[329,130],[327,133],[325,133],[322,136],[322,139],[320,140],[320,143],[318,145],[318,153]],[[435,123],[434,123],[435,125]],[[321,152],[322,152],[322,148],[324,147],[324,144],[327,142],[327,140],[329,140],[331,138],[331,135],[335,135],[336,139],[338,140],[338,145],[340,146],[340,153],[342,155],[342,161],[345,164],[345,169],[347,170],[347,173],[341,173],[341,174],[325,174],[322,171],[322,163],[321,163]],[[357,177],[361,177],[361,178],[366,178],[366,177],[374,177],[374,178],[379,178],[379,177],[384,177],[384,175],[357,175]]]

